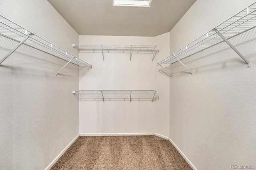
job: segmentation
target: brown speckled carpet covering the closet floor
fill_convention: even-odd
[[[192,170],[156,136],[79,137],[51,170]]]

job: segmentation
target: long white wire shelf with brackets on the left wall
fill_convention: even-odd
[[[90,68],[92,65],[82,61],[81,59],[75,57],[74,55],[64,51],[63,49],[57,47],[56,45],[50,43],[49,41],[39,37],[38,35],[28,31],[24,27],[14,23],[11,20],[8,20],[4,16],[0,15],[0,35],[12,39],[20,44],[16,46],[4,59],[0,61],[0,64],[10,55],[12,54],[20,45],[28,45],[44,53],[48,53],[62,59],[64,61],[69,61],[68,63],[73,63],[78,66],[89,66]],[[66,66],[66,65],[65,65]],[[64,67],[63,67],[64,68]],[[62,69],[63,69],[62,68]],[[62,70],[61,69],[61,70]],[[57,72],[58,74],[58,72]]]

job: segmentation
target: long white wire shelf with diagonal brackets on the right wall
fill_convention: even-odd
[[[158,65],[180,62],[180,60],[185,59],[186,57],[190,57],[191,55],[225,41],[247,63],[247,68],[250,68],[250,62],[242,56],[242,54],[228,41],[228,39],[240,35],[254,27],[256,27],[256,2],[244,8],[228,20],[220,23],[188,45],[182,47],[166,59],[160,61]],[[183,64],[183,66],[185,65]],[[192,74],[188,68],[186,69]]]

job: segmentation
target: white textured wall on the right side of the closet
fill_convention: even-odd
[[[236,14],[254,0],[197,0],[170,31],[170,53]],[[170,139],[199,170],[256,165],[256,31],[170,66]]]

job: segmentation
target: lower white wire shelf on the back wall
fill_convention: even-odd
[[[73,90],[72,94],[83,100],[158,100],[155,90]]]

